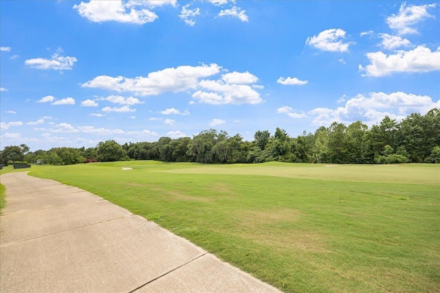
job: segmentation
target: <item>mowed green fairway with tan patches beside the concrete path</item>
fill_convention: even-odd
[[[129,161],[30,174],[91,191],[285,292],[440,291],[439,165]]]

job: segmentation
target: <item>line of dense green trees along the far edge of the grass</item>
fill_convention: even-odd
[[[0,161],[40,160],[46,164],[70,165],[91,161],[157,160],[197,163],[440,163],[440,110],[426,115],[413,113],[401,120],[385,117],[371,128],[356,121],[349,126],[333,122],[314,133],[289,137],[281,128],[274,134],[258,130],[254,141],[240,134],[203,130],[192,137],[155,142],[124,143],[109,140],[96,148],[52,148],[30,152],[27,145],[12,145],[1,152]]]

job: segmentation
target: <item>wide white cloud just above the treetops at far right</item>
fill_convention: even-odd
[[[392,119],[404,119],[410,113],[426,113],[432,108],[439,108],[440,100],[433,102],[427,95],[396,92],[369,93],[348,99],[343,107],[336,109],[315,108],[309,111],[314,115],[312,123],[316,126],[329,126],[334,121],[349,124],[363,121],[365,124],[377,124],[386,115]]]

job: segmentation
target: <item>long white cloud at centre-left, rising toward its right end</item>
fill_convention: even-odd
[[[159,95],[166,91],[185,91],[195,89],[199,78],[206,78],[219,73],[221,67],[217,64],[201,65],[197,67],[179,66],[166,68],[161,71],[148,73],[146,78],[124,78],[118,76],[112,78],[100,75],[89,82],[82,84],[83,87],[107,89],[111,91],[129,91],[137,95]]]

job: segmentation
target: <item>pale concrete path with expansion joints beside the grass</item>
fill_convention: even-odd
[[[0,176],[0,292],[279,292],[83,189]]]

